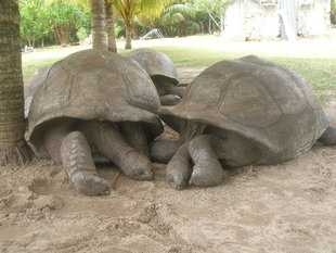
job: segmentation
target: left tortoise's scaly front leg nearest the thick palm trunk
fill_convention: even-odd
[[[80,131],[72,131],[62,139],[61,159],[74,187],[86,195],[111,190],[111,184],[96,174],[90,147]]]

